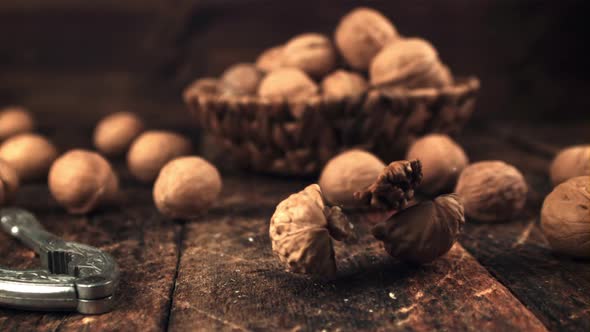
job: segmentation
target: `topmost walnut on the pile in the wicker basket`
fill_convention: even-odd
[[[375,55],[387,44],[400,37],[393,24],[381,13],[356,8],[342,17],[334,39],[346,62],[354,69],[365,71]]]

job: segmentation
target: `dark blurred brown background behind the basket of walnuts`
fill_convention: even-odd
[[[0,105],[49,123],[120,108],[178,122],[192,79],[298,33],[331,35],[359,5],[432,41],[456,75],[478,76],[475,121],[590,120],[585,1],[3,0]]]

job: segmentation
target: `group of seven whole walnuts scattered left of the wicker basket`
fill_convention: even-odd
[[[26,109],[0,110],[0,205],[11,202],[20,184],[45,178],[53,198],[70,213],[117,203],[119,178],[105,157],[125,154],[137,180],[155,181],[154,203],[168,217],[195,217],[221,192],[219,172],[191,156],[190,140],[167,131],[144,131],[143,121],[133,113],[115,113],[98,123],[93,137],[98,152],[73,149],[59,156],[47,138],[31,133],[34,127]]]

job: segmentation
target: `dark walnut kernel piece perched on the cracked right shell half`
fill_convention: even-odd
[[[363,205],[382,210],[403,209],[414,197],[422,180],[419,160],[400,160],[389,164],[367,188],[354,194]]]

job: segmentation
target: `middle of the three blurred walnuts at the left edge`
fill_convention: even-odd
[[[12,136],[0,146],[0,159],[12,166],[23,182],[47,176],[55,158],[55,146],[47,138],[37,134]]]

